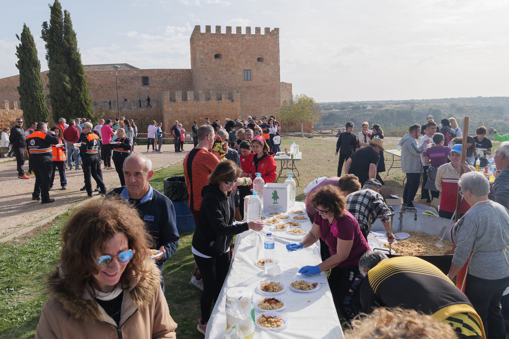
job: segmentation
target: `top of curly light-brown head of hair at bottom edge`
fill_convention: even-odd
[[[449,325],[414,310],[379,307],[373,313],[356,316],[345,331],[347,339],[453,339],[456,333]]]

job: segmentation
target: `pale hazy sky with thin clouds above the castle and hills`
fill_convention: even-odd
[[[2,6],[0,78],[18,73],[26,23],[47,70],[48,1]],[[84,65],[190,68],[194,25],[279,28],[281,81],[318,102],[507,96],[509,2],[502,0],[61,1]],[[224,28],[223,28],[224,31]],[[235,32],[235,28],[233,28]],[[1,98],[0,98],[1,99]]]

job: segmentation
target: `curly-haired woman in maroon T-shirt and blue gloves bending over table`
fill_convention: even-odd
[[[336,309],[347,320],[358,311],[355,307],[358,287],[362,281],[359,260],[370,250],[359,223],[346,209],[345,198],[337,186],[322,187],[311,199],[317,213],[313,227],[299,243],[287,245],[289,252],[309,247],[322,238],[330,251],[330,258],[316,266],[304,266],[299,273],[319,274],[330,269],[327,279]]]

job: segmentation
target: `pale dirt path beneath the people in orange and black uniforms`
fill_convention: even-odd
[[[146,152],[146,148],[142,145],[136,146],[135,151],[138,150],[147,155],[152,160],[154,170],[182,160],[187,154],[187,152],[174,153],[173,150],[169,150],[173,149],[173,145],[164,146],[162,147],[163,153]],[[166,151],[164,148],[168,150]],[[190,146],[187,148],[190,149]],[[28,232],[86,200],[87,193],[79,191],[83,187],[83,172],[81,170],[66,171],[66,191],[60,190],[60,177],[57,173],[53,190],[49,192],[55,202],[41,204],[39,201],[31,200],[35,176],[27,180],[18,179],[16,161],[7,159],[0,161],[2,161],[0,162],[0,241],[7,241]],[[24,169],[28,170],[27,162],[25,162]],[[102,174],[108,191],[120,185],[115,169],[103,169]],[[92,187],[95,188],[94,179],[92,179]],[[94,197],[96,196],[98,193],[94,192]]]

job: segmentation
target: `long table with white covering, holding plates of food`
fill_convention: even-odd
[[[291,210],[296,209],[305,211],[304,203],[296,202]],[[262,214],[267,218],[270,217],[264,212]],[[307,214],[304,215],[307,217]],[[309,231],[312,227],[309,220],[297,222],[301,223],[304,230]],[[266,280],[285,284],[286,290],[274,297],[285,302],[286,308],[278,313],[288,317],[288,327],[275,331],[256,327],[254,338],[343,338],[343,330],[335,311],[325,272],[308,277],[298,273],[300,267],[304,265],[317,265],[321,262],[320,243],[289,253],[286,244],[299,242],[303,235],[271,231],[269,228],[270,226],[265,226],[256,234],[255,246],[251,246],[253,231],[237,235],[231,267],[207,324],[205,338],[221,338],[226,331],[225,302],[226,291],[229,288],[248,287],[252,291],[254,303],[258,299],[270,297],[261,294],[257,288],[261,281]],[[263,239],[267,232],[271,232],[274,237],[276,259],[279,260],[280,273],[274,276],[266,275],[264,269],[256,264],[259,259],[264,258]],[[316,281],[320,287],[308,293],[290,289],[290,283],[302,279]],[[262,312],[255,309],[255,319],[261,314]]]

